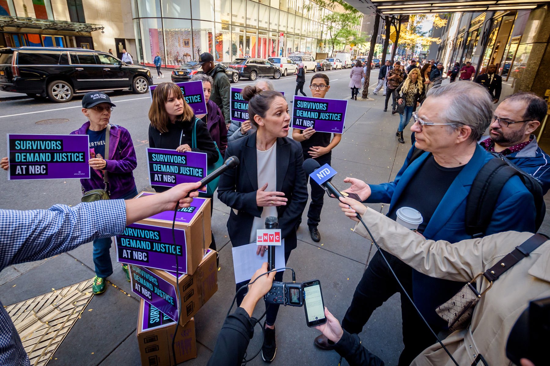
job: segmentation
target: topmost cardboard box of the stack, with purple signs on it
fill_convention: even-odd
[[[156,193],[141,192],[137,197]],[[195,198],[191,207],[164,211],[129,225],[116,240],[117,261],[163,271],[193,274],[212,241],[210,198]]]

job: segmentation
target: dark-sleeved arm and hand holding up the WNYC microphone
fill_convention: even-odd
[[[254,273],[249,285],[248,293],[233,314],[229,314],[219,332],[214,352],[208,360],[208,366],[240,366],[254,336],[254,325],[250,317],[258,301],[267,294],[273,284],[276,272],[262,275],[267,272],[267,262]],[[256,280],[256,281],[255,281]]]

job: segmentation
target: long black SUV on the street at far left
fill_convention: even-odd
[[[0,90],[69,102],[74,93],[131,89],[143,94],[153,83],[146,67],[83,48],[0,48]]]

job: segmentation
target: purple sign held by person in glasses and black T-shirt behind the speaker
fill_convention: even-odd
[[[294,96],[292,128],[343,133],[347,100]]]

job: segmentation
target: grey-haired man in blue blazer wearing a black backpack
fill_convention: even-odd
[[[454,98],[456,95],[460,98]],[[351,183],[346,192],[353,192],[366,202],[389,203],[388,217],[393,219],[400,207],[420,211],[423,222],[418,232],[427,239],[453,243],[471,239],[465,227],[466,199],[477,172],[494,159],[477,144],[491,122],[491,105],[486,89],[472,82],[432,88],[417,114],[413,114],[415,123],[411,127],[416,148],[426,152],[409,165],[414,151],[411,148],[393,182],[367,185],[359,179],[346,178],[344,182]],[[485,233],[508,230],[535,230],[535,202],[519,177],[510,178],[504,185]],[[434,310],[464,284],[427,277],[387,252],[384,256],[437,333],[445,323]],[[405,299],[380,252],[373,256],[357,285],[342,326],[349,333],[361,333],[372,312],[397,292],[401,294],[405,345],[399,365],[409,365],[434,339]],[[331,349],[322,335],[315,339],[315,345]]]

